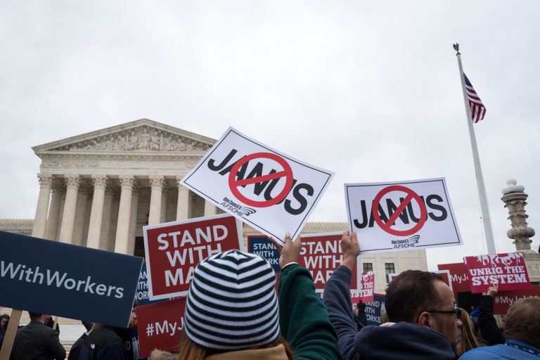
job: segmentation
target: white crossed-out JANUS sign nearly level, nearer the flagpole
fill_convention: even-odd
[[[462,245],[444,178],[345,184],[360,253]]]

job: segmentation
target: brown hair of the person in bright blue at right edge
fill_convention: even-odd
[[[504,337],[540,347],[540,297],[526,297],[508,309]]]

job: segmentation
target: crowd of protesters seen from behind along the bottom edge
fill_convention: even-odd
[[[300,237],[293,241],[287,234],[283,247],[274,244],[281,255],[277,293],[265,259],[238,250],[208,257],[195,269],[176,351],[156,349],[150,360],[540,359],[538,297],[515,302],[501,329],[493,284],[476,325],[441,276],[407,270],[387,286],[382,324],[366,325],[362,305],[354,310],[349,291],[360,253],[356,233],[342,235],[342,263],[326,283],[323,302],[311,274],[298,264]],[[58,331],[45,326],[50,316],[30,318],[15,336],[10,359],[65,359]],[[126,359],[126,331],[94,324],[69,359]]]

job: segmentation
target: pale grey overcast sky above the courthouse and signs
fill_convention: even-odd
[[[487,253],[456,52],[487,107],[475,131],[499,252],[515,178],[540,231],[539,1],[0,3],[0,218],[33,219],[32,146],[146,117],[229,126],[335,172],[309,221],[346,221],[344,183],[446,178],[465,245]],[[532,247],[539,240],[532,238]]]

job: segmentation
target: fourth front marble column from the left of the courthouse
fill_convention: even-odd
[[[115,252],[127,254],[129,221],[131,219],[131,193],[134,176],[120,175],[120,206],[118,207],[118,221],[116,225]]]

